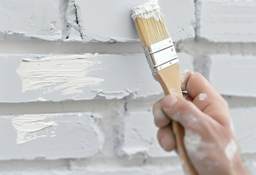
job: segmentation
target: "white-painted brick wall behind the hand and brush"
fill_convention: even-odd
[[[183,175],[157,143],[130,9],[147,0],[2,0],[0,175]],[[181,71],[227,100],[256,174],[256,0],[159,0]]]

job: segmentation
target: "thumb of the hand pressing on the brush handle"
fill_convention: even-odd
[[[161,107],[166,116],[179,122],[185,129],[193,127],[195,123],[201,123],[207,117],[191,101],[177,96],[165,96]]]

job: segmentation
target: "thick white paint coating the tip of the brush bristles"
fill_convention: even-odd
[[[131,17],[133,20],[136,18],[155,18],[155,20],[162,20],[160,7],[157,3],[144,3],[137,7],[134,7],[131,11]]]

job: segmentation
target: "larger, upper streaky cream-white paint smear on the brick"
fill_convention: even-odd
[[[22,59],[18,74],[22,79],[22,92],[49,87],[45,93],[61,90],[62,94],[80,94],[79,88],[85,85],[99,85],[104,79],[87,77],[86,75],[97,54],[69,55],[64,57],[48,57],[40,60]],[[100,62],[97,62],[100,63]]]

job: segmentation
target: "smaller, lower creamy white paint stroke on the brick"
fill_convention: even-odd
[[[48,117],[60,116],[61,114],[25,114],[21,117],[12,119],[13,127],[17,131],[17,144],[22,144],[36,138],[47,137],[48,135],[38,135],[36,131],[45,129],[47,127],[56,126],[54,121],[43,122]],[[40,122],[38,122],[40,121]],[[54,137],[51,135],[50,137]]]

